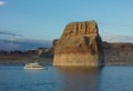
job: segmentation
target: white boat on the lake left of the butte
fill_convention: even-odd
[[[43,69],[47,69],[47,67],[43,67],[43,65],[39,64],[38,62],[33,62],[33,63],[27,63],[24,65],[24,69],[29,69],[29,70],[43,70]]]

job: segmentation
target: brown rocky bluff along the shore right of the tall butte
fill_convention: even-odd
[[[103,42],[105,64],[133,64],[133,43]]]

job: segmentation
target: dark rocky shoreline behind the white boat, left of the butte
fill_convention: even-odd
[[[42,64],[52,64],[52,48],[38,48],[27,51],[0,51],[0,64],[25,64],[34,61]]]

